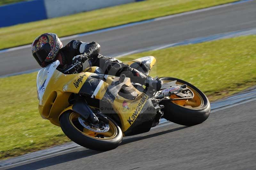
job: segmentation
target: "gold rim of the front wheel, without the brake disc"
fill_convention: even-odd
[[[82,134],[94,138],[94,139],[98,139],[98,140],[109,140],[109,139],[113,139],[117,136],[117,127],[115,126],[115,124],[109,120],[108,126],[109,126],[109,130],[107,132],[94,132],[92,130],[89,130],[87,128],[84,128],[79,122],[78,122],[78,118],[79,118],[80,114],[76,113],[76,112],[72,112],[69,115],[69,121],[71,123],[71,125],[76,128],[79,132],[81,132]],[[79,126],[79,127],[78,127]],[[96,137],[96,136],[103,136],[104,138],[101,137]]]

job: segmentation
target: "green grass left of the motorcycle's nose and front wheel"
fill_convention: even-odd
[[[37,111],[36,74],[0,79],[2,159],[69,141],[59,127],[43,120]]]

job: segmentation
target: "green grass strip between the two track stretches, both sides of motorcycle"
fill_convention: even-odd
[[[151,75],[183,79],[211,101],[256,84],[256,35],[148,51],[157,58]],[[127,57],[126,57],[127,58]],[[0,158],[68,142],[68,138],[37,111],[36,73],[0,79]]]

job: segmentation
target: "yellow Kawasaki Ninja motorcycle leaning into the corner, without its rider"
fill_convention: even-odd
[[[148,75],[155,62],[147,56],[127,64]],[[69,139],[89,149],[114,149],[123,136],[148,132],[161,118],[193,126],[210,114],[204,93],[177,78],[161,77],[161,90],[155,91],[124,74],[104,74],[96,66],[65,74],[74,66],[62,73],[59,65],[57,60],[37,74],[38,111]]]

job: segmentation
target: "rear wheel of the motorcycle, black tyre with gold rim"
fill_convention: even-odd
[[[160,104],[164,105],[162,111],[164,118],[171,122],[193,126],[204,122],[210,115],[211,106],[208,98],[202,91],[192,84],[173,77],[161,77],[163,83],[177,81],[177,85],[187,84],[187,87],[193,91],[194,98],[188,100],[163,100]],[[171,96],[177,98],[178,96]]]

